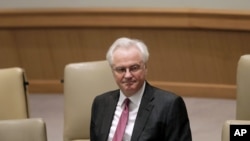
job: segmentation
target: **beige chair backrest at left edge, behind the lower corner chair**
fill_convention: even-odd
[[[0,120],[29,117],[26,84],[22,68],[0,69]]]

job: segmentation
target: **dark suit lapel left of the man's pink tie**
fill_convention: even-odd
[[[116,109],[116,105],[119,99],[119,91],[115,91],[113,93],[111,93],[110,95],[110,102],[107,103],[105,111],[106,114],[103,117],[103,128],[102,128],[102,133],[103,133],[103,141],[106,141],[108,139],[108,135],[109,135],[109,130],[112,124],[112,120],[113,120],[113,116],[114,116],[114,112]]]

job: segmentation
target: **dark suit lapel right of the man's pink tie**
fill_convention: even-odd
[[[153,98],[154,98],[153,88],[148,83],[146,83],[144,94],[141,100],[141,105],[139,107],[138,114],[136,117],[131,141],[137,141],[138,138],[140,137],[143,128],[148,120],[148,117],[154,107],[154,105],[151,103]]]

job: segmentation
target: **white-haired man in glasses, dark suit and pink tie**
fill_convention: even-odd
[[[106,58],[120,89],[94,99],[91,141],[192,141],[183,99],[146,81],[149,53],[143,42],[119,38]],[[124,104],[127,98],[128,106]],[[128,120],[121,135],[116,130],[121,129],[120,118],[126,106]],[[116,139],[117,134],[122,139]]]

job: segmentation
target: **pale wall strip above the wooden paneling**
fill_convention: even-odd
[[[250,0],[0,0],[0,8],[159,7],[250,10]]]

